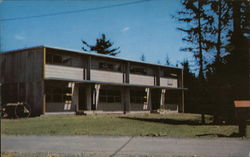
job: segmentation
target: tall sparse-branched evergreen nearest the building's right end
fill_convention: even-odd
[[[211,47],[211,42],[207,39],[207,36],[210,31],[208,26],[212,25],[213,18],[207,14],[208,0],[182,0],[182,6],[184,8],[182,11],[177,12],[177,19],[186,25],[178,29],[186,33],[182,40],[188,43],[188,46],[182,50],[192,52],[197,59],[199,73],[196,86],[198,87],[198,93],[200,93],[197,101],[200,104],[201,122],[204,124],[204,111],[207,108],[207,102],[204,101],[206,98],[206,88],[204,88],[204,64],[206,63],[204,52]]]

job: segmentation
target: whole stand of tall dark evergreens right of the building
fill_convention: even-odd
[[[196,60],[198,76],[183,63],[186,111],[233,118],[234,100],[250,99],[250,1],[181,0],[182,40]]]

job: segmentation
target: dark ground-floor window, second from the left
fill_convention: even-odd
[[[100,102],[118,103],[121,102],[121,91],[119,90],[100,90]]]

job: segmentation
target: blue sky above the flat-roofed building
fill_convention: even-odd
[[[105,33],[119,58],[170,63],[189,59],[179,23],[179,0],[0,0],[1,52],[47,45],[82,51]]]

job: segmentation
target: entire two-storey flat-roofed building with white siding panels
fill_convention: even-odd
[[[26,102],[32,115],[184,112],[183,70],[61,48],[0,54],[2,104]]]

